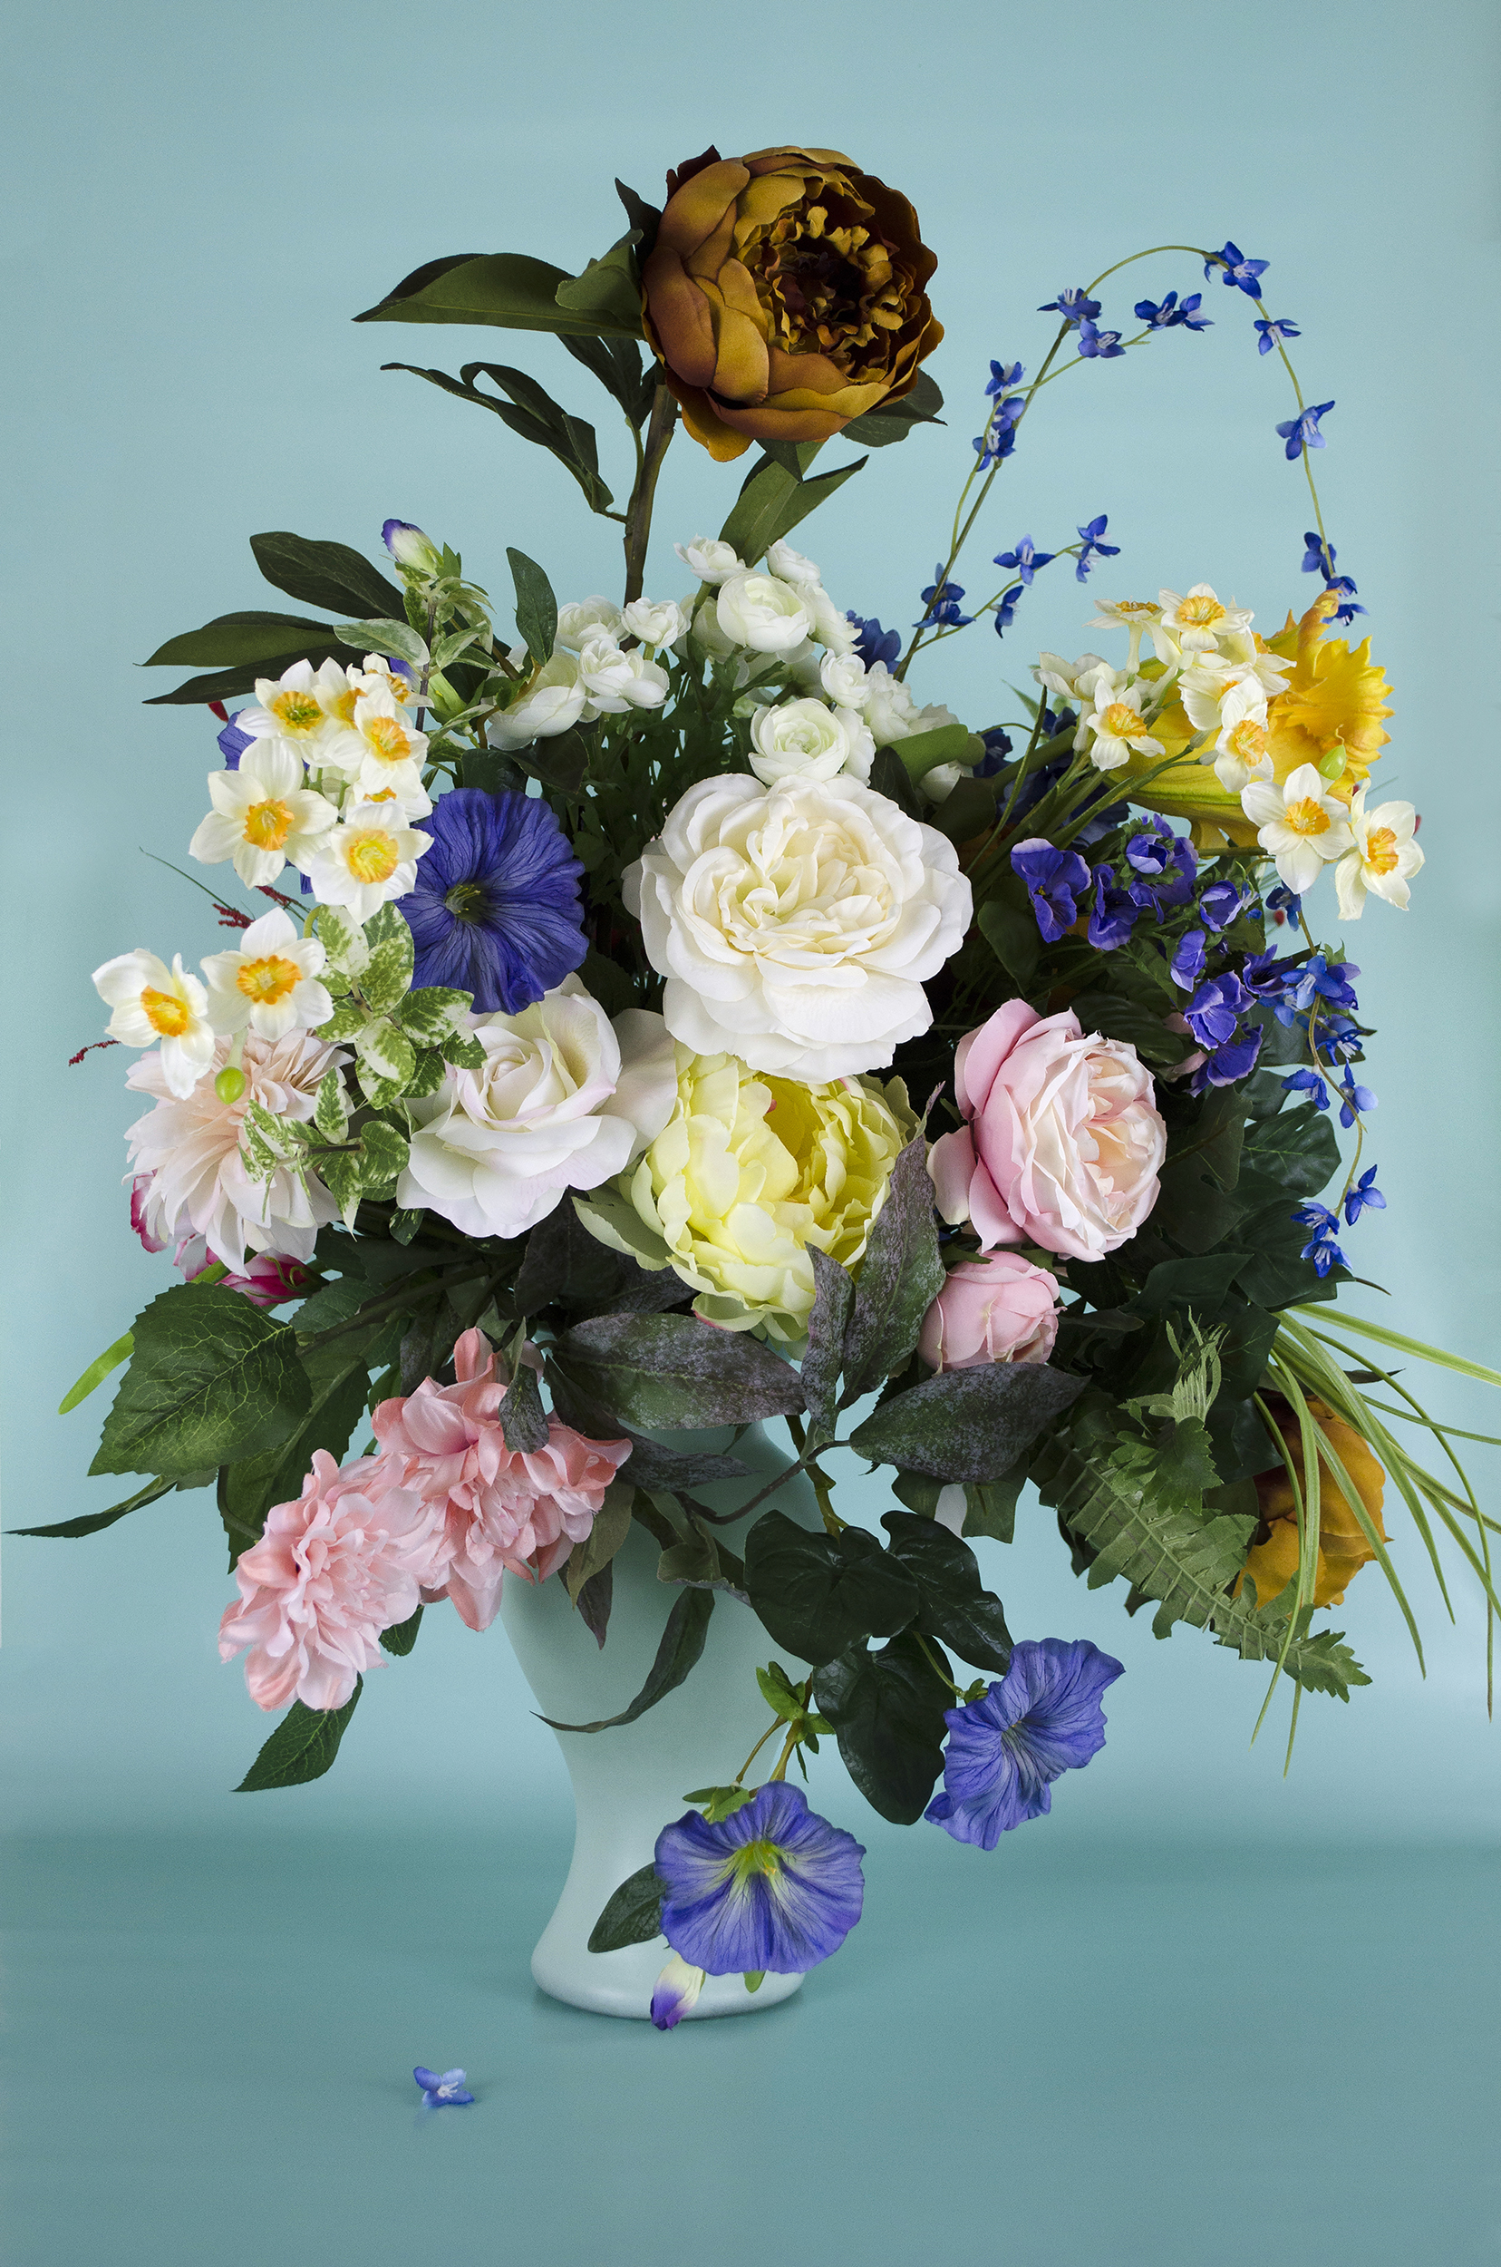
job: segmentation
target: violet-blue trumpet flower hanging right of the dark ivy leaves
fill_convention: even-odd
[[[945,1712],[943,1791],[923,1816],[977,1850],[1043,1818],[1052,1782],[1104,1748],[1100,1696],[1120,1675],[1122,1664],[1086,1637],[1023,1639],[1000,1684]]]

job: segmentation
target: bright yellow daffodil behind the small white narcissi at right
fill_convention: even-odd
[[[1299,764],[1322,769],[1338,748],[1345,769],[1331,780],[1329,793],[1349,803],[1390,739],[1390,732],[1381,730],[1381,719],[1392,712],[1385,703],[1390,685],[1385,671],[1372,662],[1369,637],[1349,646],[1342,637],[1324,635],[1338,603],[1333,592],[1324,592],[1301,621],[1288,614],[1277,637],[1258,637],[1256,646],[1295,664],[1286,691],[1267,705],[1272,778],[1281,782]],[[1154,673],[1154,664],[1150,662],[1143,673]],[[1195,737],[1181,701],[1168,703],[1154,719],[1152,732],[1168,755],[1184,753]],[[1147,769],[1150,762],[1134,757],[1120,778],[1131,782]],[[1256,841],[1256,827],[1245,818],[1240,796],[1222,787],[1197,755],[1170,764],[1140,791],[1131,789],[1131,800],[1193,821],[1199,850],[1220,850],[1227,841],[1249,850]]]

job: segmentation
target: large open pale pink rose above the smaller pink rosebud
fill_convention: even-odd
[[[968,1120],[932,1145],[939,1211],[980,1249],[1041,1245],[1100,1260],[1156,1204],[1168,1129],[1136,1047],[1086,1036],[1072,1009],[1038,1016],[1007,1000],[955,1054]]]

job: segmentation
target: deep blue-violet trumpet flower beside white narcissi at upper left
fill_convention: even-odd
[[[417,948],[413,984],[474,993],[476,1016],[517,1016],[587,952],[583,866],[540,796],[451,787],[422,830],[433,848],[397,898]]]

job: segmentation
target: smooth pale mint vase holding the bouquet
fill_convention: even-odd
[[[730,1453],[730,1433],[673,1435],[673,1446],[682,1449]],[[791,1449],[766,1440],[760,1426],[741,1433],[732,1453],[750,1467],[750,1478],[694,1492],[716,1512],[750,1501],[791,1462]],[[814,1492],[803,1474],[769,1503],[800,1526],[819,1526]],[[716,1532],[730,1548],[744,1548],[739,1521]],[[537,1709],[560,1723],[594,1723],[630,1705],[678,1596],[658,1582],[658,1546],[639,1526],[633,1526],[612,1564],[614,1601],[603,1650],[571,1610],[560,1578],[542,1585],[508,1578],[501,1594],[501,1621]],[[651,1863],[658,1834],[685,1811],[685,1793],[735,1777],[771,1721],[755,1671],[773,1657],[789,1675],[805,1673],[800,1662],[773,1646],[748,1605],[716,1594],[703,1657],[676,1691],[610,1732],[556,1734],[574,1782],[574,1863],[531,1956],[533,1977],[553,1999],[596,2015],[651,2015],[651,1988],[669,1959],[667,1943],[658,1936],[621,1952],[590,1952],[590,1929],[619,1884]],[[757,1993],[748,1993],[737,1975],[707,1977],[692,2013],[750,2015],[787,1999],[800,1981],[769,1975]]]

